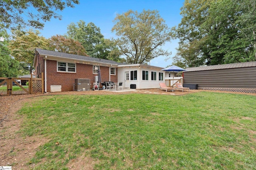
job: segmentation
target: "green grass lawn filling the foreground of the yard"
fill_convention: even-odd
[[[104,170],[253,170],[255,103],[213,92],[43,96],[19,111],[20,133],[49,139],[29,162],[38,170],[68,170],[82,155]]]

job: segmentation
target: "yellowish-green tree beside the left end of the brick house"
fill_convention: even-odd
[[[28,64],[30,74],[33,70],[34,54],[36,48],[48,49],[48,40],[39,36],[38,30],[13,31],[13,39],[10,42],[11,55],[19,62]]]

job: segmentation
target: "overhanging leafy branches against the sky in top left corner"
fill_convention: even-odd
[[[56,11],[74,8],[75,4],[79,4],[79,0],[1,0],[0,23],[11,29],[26,26],[42,29],[43,22],[52,17],[62,19]]]

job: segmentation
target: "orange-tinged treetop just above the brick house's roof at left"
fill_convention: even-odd
[[[88,56],[80,42],[74,39],[65,38],[62,35],[52,36],[49,39],[49,49],[62,53]]]

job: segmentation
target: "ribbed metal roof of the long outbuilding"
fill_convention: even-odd
[[[185,72],[191,71],[203,71],[203,70],[220,70],[227,68],[243,68],[243,67],[255,67],[256,61],[245,62],[245,63],[233,63],[233,64],[220,64],[212,66],[201,66],[201,67],[188,67]]]

